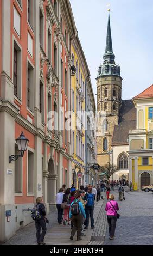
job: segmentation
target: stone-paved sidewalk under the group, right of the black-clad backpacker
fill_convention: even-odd
[[[91,241],[92,234],[94,233],[97,227],[98,216],[101,212],[101,206],[105,201],[100,200],[94,206],[94,224],[95,228],[91,229],[90,225],[88,230],[84,231],[85,237],[82,237],[82,241],[76,241],[76,235],[73,240],[69,240],[71,233],[71,226],[63,226],[56,224],[53,228],[47,231],[45,236],[46,245],[87,245]]]

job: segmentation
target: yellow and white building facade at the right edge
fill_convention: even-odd
[[[129,131],[129,180],[134,189],[153,184],[153,86],[133,98],[135,130]]]

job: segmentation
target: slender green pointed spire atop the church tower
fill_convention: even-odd
[[[111,25],[110,25],[110,9],[109,9],[109,19],[107,25],[107,37],[106,37],[106,49],[105,54],[103,56],[104,64],[105,63],[112,63],[114,62],[114,54],[113,54],[113,47],[112,47],[112,36],[111,36]]]

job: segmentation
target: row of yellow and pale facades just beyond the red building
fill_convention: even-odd
[[[86,170],[87,163],[95,161],[95,148],[93,147],[95,136],[93,135],[91,144],[88,141],[90,138],[87,137],[90,136],[91,131],[88,124],[88,113],[92,111],[93,116],[95,115],[95,100],[91,81],[88,78],[90,71],[78,35],[72,40],[71,56],[72,66],[76,68],[75,74],[71,76],[72,182],[76,188],[79,188],[80,185],[87,183],[87,176],[89,175]],[[82,173],[82,178],[78,178],[78,172]]]

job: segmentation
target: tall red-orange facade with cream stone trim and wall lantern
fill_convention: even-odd
[[[0,1],[0,241],[31,222],[35,199],[47,212],[72,181],[71,40],[76,28],[69,1]],[[52,118],[52,111],[58,113]],[[23,157],[15,139],[29,139]],[[9,212],[9,217],[6,215]]]

